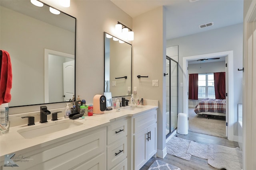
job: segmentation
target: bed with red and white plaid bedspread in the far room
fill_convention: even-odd
[[[226,99],[203,99],[194,109],[196,114],[226,116]]]

